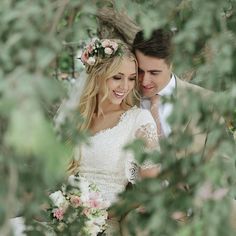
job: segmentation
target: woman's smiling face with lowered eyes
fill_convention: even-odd
[[[108,100],[112,104],[121,104],[122,100],[134,88],[136,83],[135,62],[129,58],[124,58],[117,74],[107,80]]]

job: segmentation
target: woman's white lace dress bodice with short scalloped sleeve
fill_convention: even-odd
[[[79,172],[101,190],[103,197],[113,203],[128,181],[134,182],[138,165],[131,152],[123,147],[135,138],[143,138],[148,148],[156,148],[156,124],[147,110],[137,108],[123,113],[116,126],[96,133],[89,145],[75,153]]]

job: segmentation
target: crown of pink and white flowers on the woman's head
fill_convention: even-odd
[[[98,58],[111,58],[120,55],[121,46],[110,39],[92,39],[85,47],[81,55],[81,61],[84,65],[93,66]]]

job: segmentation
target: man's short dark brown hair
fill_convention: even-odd
[[[133,51],[139,50],[146,56],[165,59],[167,63],[170,63],[173,50],[172,36],[171,31],[156,29],[152,31],[149,38],[146,38],[144,31],[139,31],[134,38]]]

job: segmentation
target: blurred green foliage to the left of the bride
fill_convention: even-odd
[[[1,1],[0,235],[10,234],[10,217],[43,216],[48,191],[65,178],[72,144],[51,119],[67,92],[55,65],[62,55],[60,70],[71,68],[64,45],[87,37],[95,11],[87,1]]]

